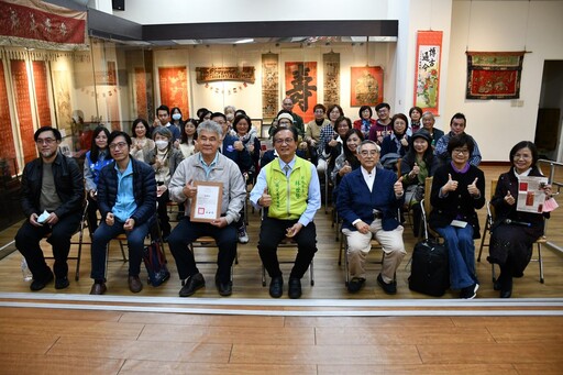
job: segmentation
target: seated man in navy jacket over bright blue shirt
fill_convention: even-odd
[[[129,154],[131,137],[114,131],[108,139],[113,162],[100,172],[98,207],[100,227],[92,236],[90,295],[103,295],[106,287],[106,249],[118,234],[125,233],[129,246],[129,289],[140,293],[139,278],[143,260],[144,240],[156,220],[156,179],[153,168]]]

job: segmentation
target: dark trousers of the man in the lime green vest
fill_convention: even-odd
[[[282,276],[279,261],[277,258],[277,246],[286,236],[286,229],[292,227],[297,220],[278,220],[264,218],[260,230],[258,254],[268,272],[269,277]],[[294,268],[289,274],[290,278],[303,277],[314,253],[317,252],[317,230],[314,222],[301,228],[295,236],[297,242],[297,256]]]

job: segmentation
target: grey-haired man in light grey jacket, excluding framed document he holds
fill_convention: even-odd
[[[176,202],[185,202],[186,216],[178,222],[168,236],[170,252],[176,260],[178,275],[185,280],[179,291],[180,297],[189,297],[206,285],[194,254],[188,244],[196,239],[209,235],[219,247],[217,255],[216,286],[221,296],[232,294],[231,266],[236,256],[236,221],[246,199],[246,186],[239,166],[219,152],[222,128],[213,121],[198,125],[199,153],[180,163],[174,174],[169,191]],[[211,222],[195,222],[189,212],[192,199],[197,195],[196,181],[222,184],[223,195],[220,200],[221,217]]]

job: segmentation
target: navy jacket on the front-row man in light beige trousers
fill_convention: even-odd
[[[402,206],[405,195],[395,197],[393,185],[397,176],[387,169],[377,168],[372,191],[365,184],[362,168],[352,170],[345,175],[339,185],[336,209],[339,216],[344,220],[342,228],[355,231],[352,223],[361,219],[366,224],[374,221],[373,210],[377,209],[383,213],[382,225],[384,231],[393,231],[399,225],[396,219],[398,209]]]

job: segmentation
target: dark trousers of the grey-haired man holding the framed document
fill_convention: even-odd
[[[191,222],[184,217],[168,236],[168,246],[176,260],[180,279],[186,279],[199,273],[196,258],[189,251],[188,244],[197,238],[209,235],[216,240],[219,247],[217,255],[217,275],[222,283],[231,279],[231,266],[236,256],[236,224],[217,228],[209,223]]]

